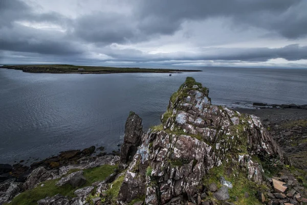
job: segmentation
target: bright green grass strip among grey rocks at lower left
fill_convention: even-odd
[[[87,182],[82,187],[91,186],[91,184],[95,181],[104,180],[107,176],[114,172],[115,168],[117,168],[117,166],[103,165],[100,167],[84,170],[83,176],[86,178]],[[59,179],[44,181],[42,183],[45,186],[38,186],[32,190],[25,191],[16,196],[9,204],[34,205],[37,204],[39,199],[43,199],[47,196],[52,197],[56,194],[75,197],[74,191],[82,188],[73,188],[69,184],[58,187],[55,185],[58,180]]]

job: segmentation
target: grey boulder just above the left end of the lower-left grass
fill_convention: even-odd
[[[37,169],[33,170],[31,174],[27,177],[27,180],[23,185],[23,189],[33,189],[38,183],[53,179],[53,177],[54,176],[50,171],[47,171],[43,167],[38,167]]]

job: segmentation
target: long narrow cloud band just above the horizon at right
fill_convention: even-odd
[[[282,48],[211,48],[200,51],[199,54],[187,52],[147,54],[135,49],[119,51],[105,51],[115,59],[122,61],[164,61],[164,60],[239,60],[239,61],[267,61],[274,58],[287,60],[307,59],[307,46],[297,44]]]

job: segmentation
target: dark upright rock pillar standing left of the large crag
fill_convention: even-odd
[[[125,165],[128,161],[132,160],[141,143],[142,135],[142,119],[136,113],[130,112],[125,125],[124,143],[121,146],[121,165]]]

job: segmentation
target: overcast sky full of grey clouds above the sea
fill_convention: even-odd
[[[0,64],[307,67],[306,0],[1,0]]]

